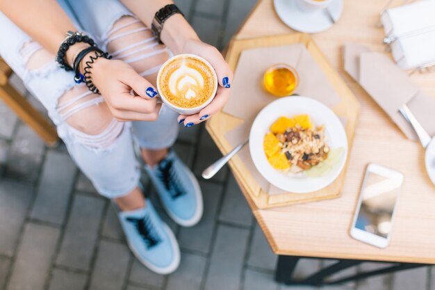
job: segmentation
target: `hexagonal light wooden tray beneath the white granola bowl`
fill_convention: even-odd
[[[252,49],[255,47],[274,47],[279,45],[291,45],[295,43],[302,43],[310,52],[313,59],[318,63],[322,71],[327,76],[327,79],[336,89],[336,92],[341,98],[340,104],[332,108],[338,115],[343,116],[347,120],[345,127],[347,133],[347,140],[349,142],[349,156],[352,148],[352,140],[354,138],[354,129],[356,125],[356,118],[359,112],[359,103],[345,85],[344,81],[340,78],[338,73],[331,67],[325,56],[322,55],[320,49],[315,45],[309,35],[304,33],[292,33],[288,35],[277,35],[263,38],[252,38],[245,40],[232,40],[226,54],[227,62],[232,70],[236,69],[240,53],[244,49]],[[227,113],[220,112],[215,115],[206,124],[206,129],[219,147],[222,154],[227,154],[231,151],[231,145],[224,137],[225,134],[243,122],[239,118],[233,117]],[[347,159],[343,172],[337,177],[335,182],[320,191],[313,193],[283,193],[277,195],[269,195],[261,189],[256,180],[250,175],[245,167],[243,161],[238,156],[234,156],[229,162],[234,176],[239,182],[240,187],[243,189],[248,202],[255,205],[258,209],[267,209],[270,207],[279,207],[289,204],[297,204],[302,202],[312,202],[315,200],[325,200],[329,198],[338,198],[341,194],[341,188],[345,180],[345,173],[347,171]]]

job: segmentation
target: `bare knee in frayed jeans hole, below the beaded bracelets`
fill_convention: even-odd
[[[124,124],[117,122],[103,97],[85,86],[74,86],[58,100],[58,113],[72,128],[83,145],[102,149],[112,145],[122,133]]]

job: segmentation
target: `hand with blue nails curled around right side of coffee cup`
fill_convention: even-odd
[[[180,115],[179,123],[183,123],[185,127],[191,127],[210,118],[211,115],[219,112],[220,109],[227,103],[229,99],[230,84],[233,80],[233,72],[229,68],[228,63],[224,60],[222,54],[213,46],[207,45],[201,40],[187,40],[181,54],[196,54],[206,59],[215,68],[217,74],[216,96],[213,101],[195,115]]]

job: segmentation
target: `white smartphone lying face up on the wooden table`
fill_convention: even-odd
[[[350,229],[354,239],[379,248],[388,245],[403,179],[397,170],[374,163],[367,166]]]

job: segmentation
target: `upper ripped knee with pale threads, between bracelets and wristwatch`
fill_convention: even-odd
[[[129,63],[155,85],[158,68],[169,55],[145,24],[134,17],[123,16],[113,25],[106,42],[114,58]]]

